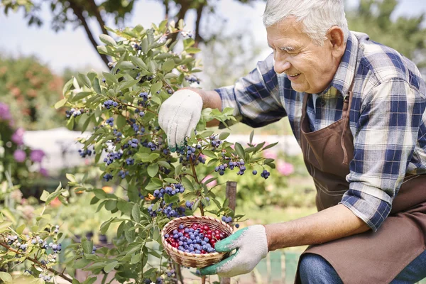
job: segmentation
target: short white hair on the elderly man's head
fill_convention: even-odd
[[[345,42],[348,38],[342,0],[268,0],[263,24],[268,28],[290,16],[302,23],[304,32],[317,45],[324,44],[327,31],[333,26],[342,28]]]

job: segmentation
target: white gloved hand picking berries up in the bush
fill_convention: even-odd
[[[180,89],[161,104],[158,124],[167,135],[171,151],[182,147],[186,136],[191,136],[200,121],[202,98],[190,89]]]

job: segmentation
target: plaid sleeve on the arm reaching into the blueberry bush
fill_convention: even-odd
[[[222,109],[234,109],[236,121],[251,127],[261,127],[278,121],[287,114],[280,101],[278,76],[273,70],[273,54],[258,62],[256,69],[236,81],[234,86],[215,89],[222,99]]]

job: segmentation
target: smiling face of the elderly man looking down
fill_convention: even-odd
[[[302,23],[286,18],[266,28],[268,45],[273,49],[277,73],[285,73],[297,92],[317,94],[334,77],[341,57],[333,53],[332,41],[318,46],[302,31]]]

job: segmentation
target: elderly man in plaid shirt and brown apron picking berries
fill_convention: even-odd
[[[415,283],[426,277],[426,89],[392,48],[349,31],[342,0],[269,0],[263,62],[235,86],[182,89],[160,126],[181,146],[204,107],[234,107],[258,127],[288,116],[317,187],[319,212],[255,225],[216,245],[202,274],[248,273],[268,251],[310,245],[302,283]],[[301,192],[302,194],[302,192]]]

